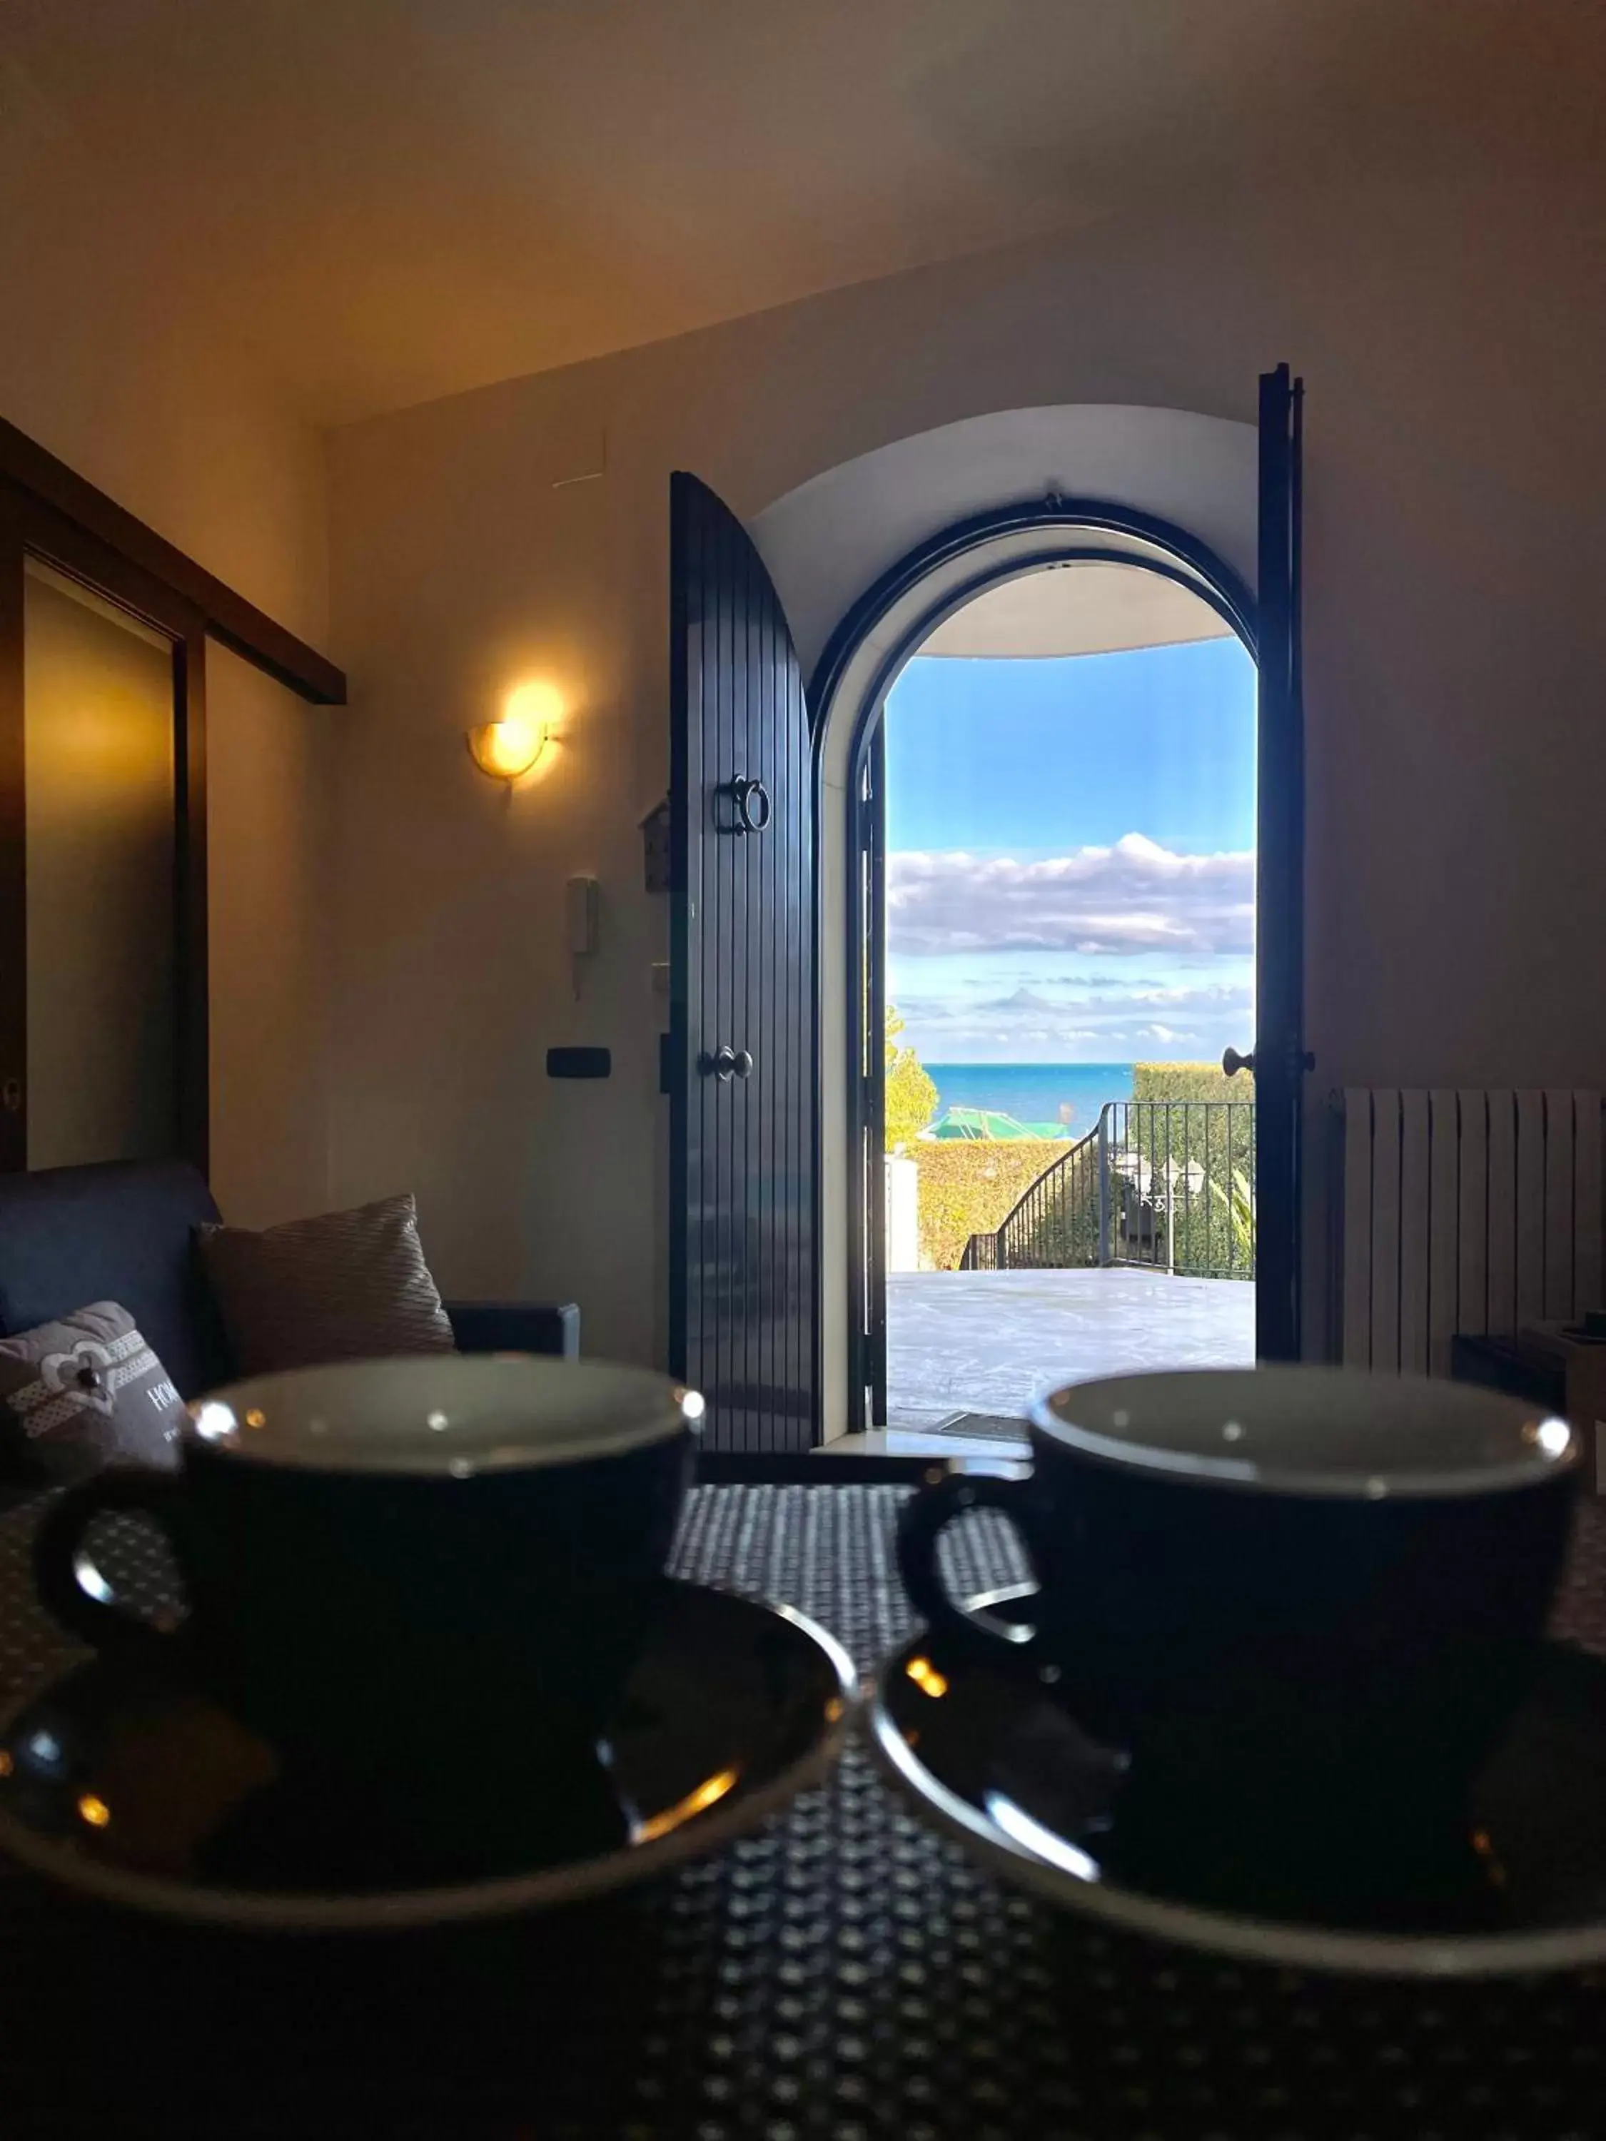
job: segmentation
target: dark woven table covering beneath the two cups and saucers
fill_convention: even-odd
[[[899,1488],[700,1488],[679,1569],[863,1666],[908,1627]],[[0,1683],[64,1646],[0,1520]],[[959,1582],[1017,1580],[989,1518]],[[148,1544],[131,1565],[161,1589]],[[1561,1625],[1606,1649],[1587,1512]],[[1602,1809],[1606,1820],[1606,1809]],[[867,1758],[606,1903],[450,1940],[242,1940],[0,1876],[0,2132],[617,2141],[1595,2141],[1606,1974],[1424,1989],[1111,1938],[910,1820]]]

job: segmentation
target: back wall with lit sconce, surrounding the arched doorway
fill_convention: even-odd
[[[666,779],[670,469],[756,516],[1000,409],[1251,422],[1278,358],[1310,388],[1317,1090],[1600,1083],[1602,257],[1606,206],[1561,180],[1199,199],[336,435],[338,1195],[418,1184],[448,1285],[576,1295],[591,1349],[649,1357],[664,910],[636,818]],[[529,668],[574,719],[503,807],[460,732]],[[606,895],[580,1004],[576,869]],[[612,1045],[612,1083],[546,1083],[567,1038]]]

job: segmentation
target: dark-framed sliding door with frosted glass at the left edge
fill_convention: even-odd
[[[4,480],[0,970],[0,1171],[206,1169],[206,621]]]

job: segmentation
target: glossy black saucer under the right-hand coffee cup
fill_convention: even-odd
[[[972,1604],[1030,1621],[1032,1595],[1015,1586]],[[1325,1895],[1272,1888],[1186,1803],[1154,1850],[1154,1833],[1122,1811],[1133,1796],[1118,1751],[1034,1683],[929,1636],[880,1668],[869,1732],[919,1816],[1011,1880],[1135,1933],[1400,1976],[1606,1959],[1606,1666],[1567,1644],[1546,1644],[1533,1696],[1478,1781],[1467,1835],[1377,1895],[1347,1878]]]

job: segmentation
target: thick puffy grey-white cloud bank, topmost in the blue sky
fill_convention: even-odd
[[[1173,854],[1143,833],[1039,863],[957,848],[887,859],[895,953],[1248,953],[1255,856]]]

